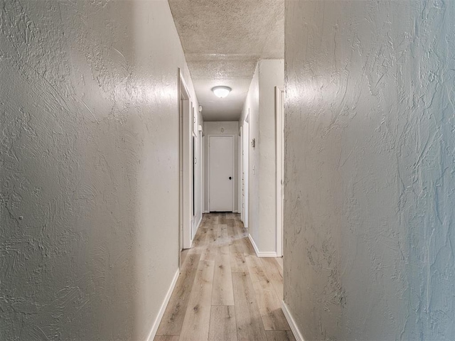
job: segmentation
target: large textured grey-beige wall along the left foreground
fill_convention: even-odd
[[[0,339],[145,340],[191,83],[168,3],[0,1],[0,46]]]

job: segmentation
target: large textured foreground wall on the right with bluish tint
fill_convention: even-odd
[[[305,340],[454,340],[455,3],[285,13],[285,303]]]

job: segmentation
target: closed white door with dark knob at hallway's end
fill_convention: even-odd
[[[208,136],[210,212],[232,212],[234,136]]]

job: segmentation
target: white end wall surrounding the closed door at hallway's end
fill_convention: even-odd
[[[223,131],[221,131],[223,129]],[[234,190],[232,191],[232,195],[234,195],[234,211],[238,212],[238,153],[239,153],[239,145],[238,145],[238,136],[239,136],[239,122],[238,121],[206,121],[204,122],[204,144],[205,144],[205,181],[204,181],[204,189],[205,189],[205,211],[208,212],[208,136],[209,135],[234,135],[234,174],[232,174],[232,178],[234,178]]]

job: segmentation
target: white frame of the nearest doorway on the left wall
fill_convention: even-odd
[[[191,96],[188,86],[178,69],[178,113],[179,113],[179,222],[178,222],[178,264],[180,265],[181,249],[191,248]],[[181,233],[183,235],[181,235]]]

